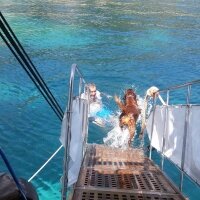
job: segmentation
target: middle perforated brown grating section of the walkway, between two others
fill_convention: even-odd
[[[166,179],[160,172],[147,171],[135,173],[130,170],[85,169],[82,170],[77,186],[175,193],[174,189],[167,185]]]

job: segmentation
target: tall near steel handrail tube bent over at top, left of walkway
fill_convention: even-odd
[[[74,91],[74,78],[75,73],[80,77],[80,82],[86,84],[82,73],[78,69],[76,64],[73,64],[71,67],[71,75],[69,82],[69,96],[68,96],[68,105],[67,105],[67,133],[65,136],[65,152],[64,152],[64,161],[63,161],[63,177],[62,177],[62,191],[61,191],[61,199],[65,200],[67,195],[67,185],[68,185],[68,168],[69,168],[69,149],[70,149],[70,141],[71,141],[71,122],[72,122],[72,101],[73,101],[73,91]],[[79,84],[79,87],[82,84]],[[79,88],[79,93],[81,89]],[[80,95],[80,94],[79,94]]]

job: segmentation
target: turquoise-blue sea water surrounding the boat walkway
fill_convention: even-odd
[[[0,8],[63,110],[73,63],[109,95],[134,87],[144,96],[152,85],[200,77],[200,1],[0,0]],[[60,146],[61,124],[2,40],[0,58],[0,145],[28,179]],[[116,112],[112,99],[104,101]],[[108,131],[90,124],[89,141],[103,143]],[[60,198],[62,156],[33,180],[42,200]],[[199,199],[188,179],[184,192]]]

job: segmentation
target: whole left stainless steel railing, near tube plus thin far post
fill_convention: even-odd
[[[81,92],[84,88],[86,90],[86,81],[83,78],[82,73],[80,72],[79,68],[76,64],[73,64],[71,67],[71,75],[70,75],[70,82],[69,82],[69,96],[68,96],[68,105],[67,105],[67,134],[65,136],[65,152],[64,152],[64,161],[63,161],[63,177],[62,177],[62,191],[61,191],[61,199],[66,200],[67,197],[67,186],[68,186],[68,168],[69,168],[69,149],[70,149],[70,141],[71,141],[71,122],[72,122],[72,104],[73,104],[73,97],[74,97],[74,81],[75,75],[79,77],[79,97],[81,96]],[[84,87],[83,87],[84,84]],[[88,112],[85,111],[83,113],[83,127],[87,131],[88,130]],[[87,137],[87,134],[86,134]],[[86,144],[86,140],[84,143]],[[84,144],[84,146],[85,146]],[[84,151],[85,147],[83,148]]]

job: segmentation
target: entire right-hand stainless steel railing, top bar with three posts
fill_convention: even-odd
[[[170,99],[170,92],[173,90],[179,90],[182,88],[186,88],[186,99],[185,99],[185,106],[186,106],[186,114],[185,114],[185,122],[184,122],[184,135],[183,135],[183,148],[182,148],[182,155],[181,155],[181,167],[180,167],[180,171],[181,171],[181,176],[180,176],[180,185],[179,188],[182,191],[182,187],[183,187],[183,176],[184,176],[184,163],[185,163],[185,147],[186,147],[186,141],[187,141],[187,134],[188,134],[188,126],[189,126],[189,114],[190,114],[190,107],[191,107],[191,90],[192,90],[192,86],[195,84],[200,84],[200,80],[195,80],[195,81],[191,81],[191,82],[187,82],[181,85],[176,85],[176,86],[172,86],[166,89],[162,89],[159,90],[157,93],[159,94],[166,94],[166,109],[165,109],[165,121],[164,121],[164,133],[162,136],[162,150],[161,150],[161,168],[163,170],[163,165],[164,165],[164,147],[165,147],[165,136],[167,134],[167,119],[168,119],[168,108],[169,108],[169,99]],[[155,95],[156,96],[156,95]],[[149,158],[151,159],[152,156],[152,137],[153,137],[153,127],[154,127],[154,123],[155,123],[155,110],[156,110],[156,106],[157,106],[157,98],[153,99],[153,111],[152,111],[152,122],[151,122],[151,133],[150,133],[150,154],[149,154]]]

